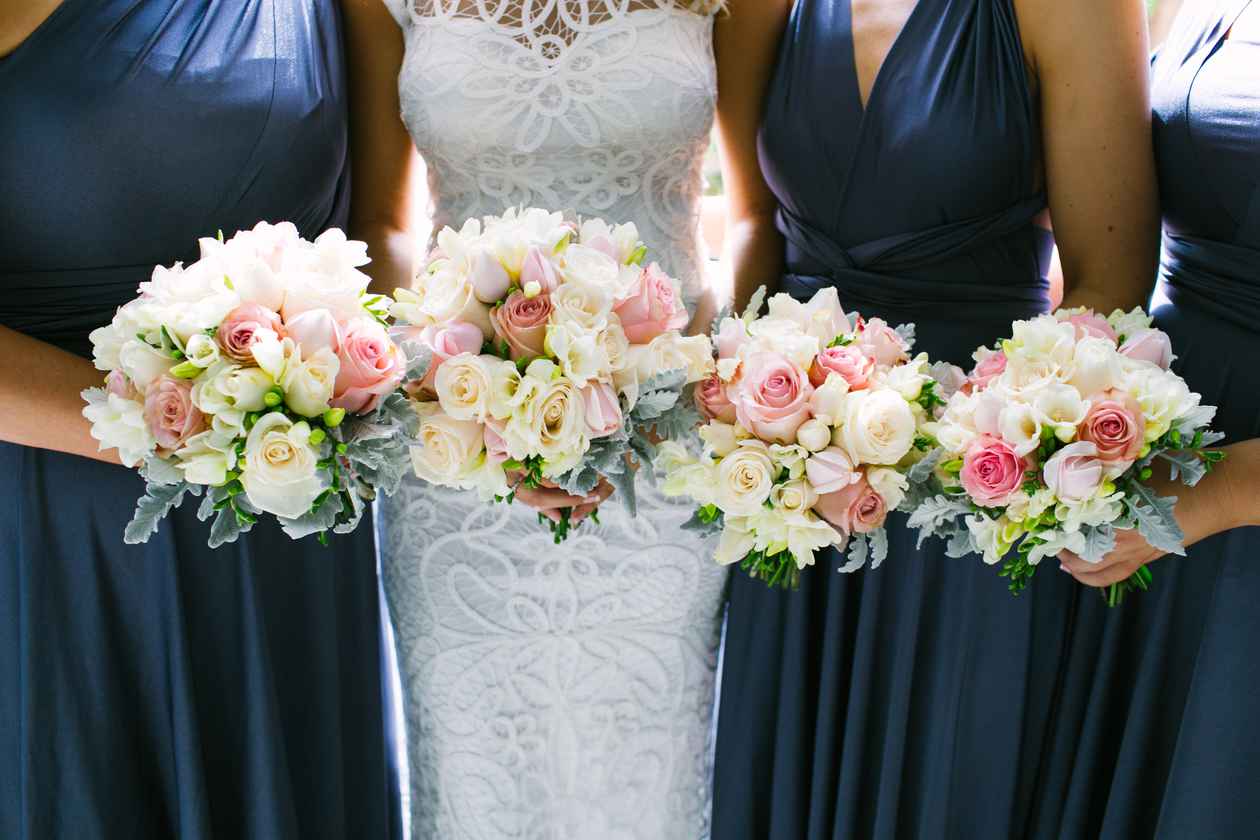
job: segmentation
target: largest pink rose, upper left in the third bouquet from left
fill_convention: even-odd
[[[761,440],[780,443],[795,443],[796,429],[809,419],[813,393],[805,372],[777,353],[746,359],[740,383],[728,390],[740,423]]]

